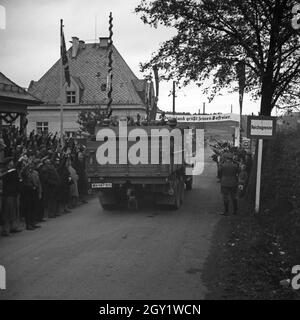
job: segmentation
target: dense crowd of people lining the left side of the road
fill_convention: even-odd
[[[40,228],[48,218],[86,203],[86,148],[57,134],[26,135],[10,126],[0,131],[2,236]]]

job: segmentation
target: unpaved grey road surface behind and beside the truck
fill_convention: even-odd
[[[151,203],[103,211],[98,199],[0,238],[7,289],[0,299],[203,299],[202,270],[219,220],[215,164],[177,211]]]

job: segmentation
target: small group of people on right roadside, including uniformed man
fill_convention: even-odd
[[[234,147],[227,142],[211,145],[214,154],[212,159],[217,163],[217,178],[221,183],[224,201],[224,215],[228,215],[229,202],[232,202],[233,213],[237,214],[238,199],[242,198],[252,169],[252,154],[242,148]]]

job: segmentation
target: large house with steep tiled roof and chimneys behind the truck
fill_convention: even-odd
[[[151,82],[138,79],[116,47],[113,50],[112,115],[145,117],[147,103],[153,106],[154,89]],[[107,107],[109,38],[99,38],[98,43],[85,43],[72,38],[68,50],[71,86],[63,84],[58,60],[38,81],[31,81],[28,91],[44,103],[29,107],[27,131],[59,132],[60,103],[63,96],[63,126],[66,135],[79,130],[78,113]],[[151,107],[150,107],[151,108]]]

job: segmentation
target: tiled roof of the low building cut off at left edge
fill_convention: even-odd
[[[28,103],[42,103],[0,72],[0,98],[19,99]]]

